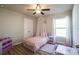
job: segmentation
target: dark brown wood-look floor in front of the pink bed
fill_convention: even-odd
[[[29,50],[28,48],[25,48],[23,44],[18,44],[16,46],[13,46],[12,49],[5,53],[4,55],[33,55],[34,53]]]

